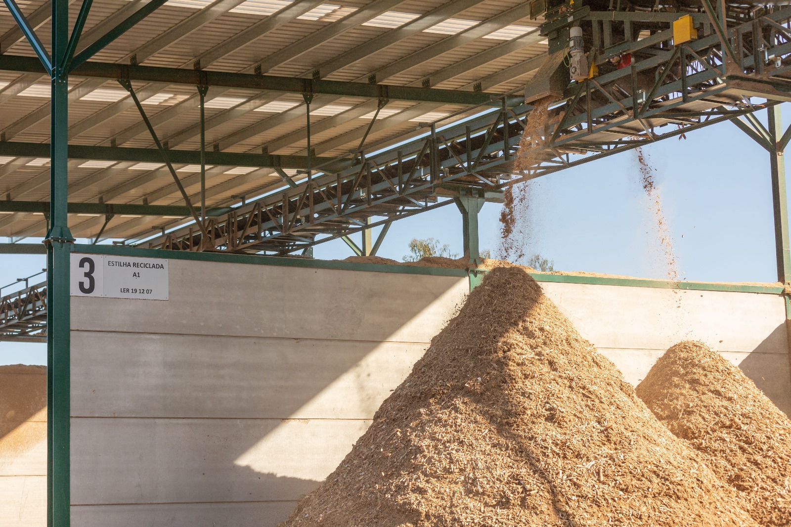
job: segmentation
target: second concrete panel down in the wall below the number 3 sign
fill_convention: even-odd
[[[81,417],[370,419],[403,380],[404,365],[426,350],[426,343],[114,332],[73,332],[71,342],[71,412]]]

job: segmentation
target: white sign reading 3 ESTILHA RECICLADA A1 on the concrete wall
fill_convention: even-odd
[[[168,300],[168,260],[72,252],[71,294]]]

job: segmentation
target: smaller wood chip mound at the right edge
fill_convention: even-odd
[[[791,421],[738,367],[704,343],[678,343],[637,393],[760,525],[791,525]]]

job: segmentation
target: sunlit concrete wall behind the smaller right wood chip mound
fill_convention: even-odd
[[[637,385],[668,347],[702,340],[791,415],[785,299],[736,293],[542,282],[585,339]]]

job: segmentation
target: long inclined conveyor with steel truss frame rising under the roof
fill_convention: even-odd
[[[605,14],[585,13],[592,20]],[[656,18],[654,13],[628,14],[633,21]],[[507,94],[499,98],[499,110],[480,106],[482,115],[456,118],[460,123],[448,118],[418,138],[389,141],[397,147],[358,150],[350,156],[358,161],[347,169],[318,165],[321,173],[297,188],[209,218],[206,235],[187,226],[148,246],[286,254],[452,202],[444,196],[494,199],[518,181],[725,120],[746,116],[751,126],[760,125],[753,112],[791,100],[782,91],[791,88],[791,78],[783,78],[791,65],[782,62],[791,52],[789,20],[791,9],[782,9],[731,28],[736,63],[723,60],[729,45],[724,53],[723,41],[713,30],[679,46],[672,45],[672,28],[612,46],[598,55],[598,63],[626,50],[633,55],[645,51],[649,58],[570,85],[566,98],[556,101],[561,104],[527,144],[523,135],[532,106],[512,107],[514,94]],[[768,57],[779,59],[779,65],[767,66]],[[646,75],[655,80],[646,84]],[[754,104],[747,97],[759,94],[770,98]],[[750,135],[770,147],[765,132]],[[783,137],[781,150],[788,140]],[[372,217],[384,219],[371,223]]]

